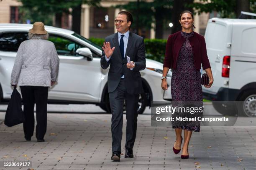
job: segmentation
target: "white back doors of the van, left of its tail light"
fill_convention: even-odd
[[[229,77],[223,77],[223,60],[231,53],[232,23],[225,19],[212,18],[207,23],[205,42],[210,61],[214,83],[203,92],[215,95],[220,87],[228,87]],[[224,63],[225,64],[225,63]],[[224,65],[224,67],[228,67]]]

